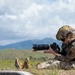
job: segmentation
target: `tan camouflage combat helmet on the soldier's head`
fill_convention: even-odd
[[[68,25],[62,26],[61,28],[59,28],[59,30],[56,34],[56,38],[57,38],[57,40],[65,39],[67,33],[73,32],[73,31],[75,31],[75,29]]]

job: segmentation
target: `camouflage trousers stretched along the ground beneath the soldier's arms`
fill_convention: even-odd
[[[44,68],[50,68],[50,69],[75,69],[75,61],[70,62],[63,62],[58,60],[49,60],[47,62],[39,63],[37,66],[37,69],[44,69]]]

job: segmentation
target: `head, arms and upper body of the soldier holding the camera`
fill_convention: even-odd
[[[59,33],[60,32],[60,33]],[[61,38],[60,38],[61,37]],[[70,26],[63,26],[59,29],[56,38],[62,41],[62,51],[55,53],[51,47],[45,53],[53,53],[58,60],[71,61],[75,59],[75,34]],[[63,59],[62,59],[63,57]]]

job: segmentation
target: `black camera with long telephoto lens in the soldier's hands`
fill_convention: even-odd
[[[56,52],[60,53],[60,47],[57,45],[57,43],[52,43],[52,44],[33,44],[33,49],[34,51],[41,51],[41,50],[48,50],[49,46]]]

